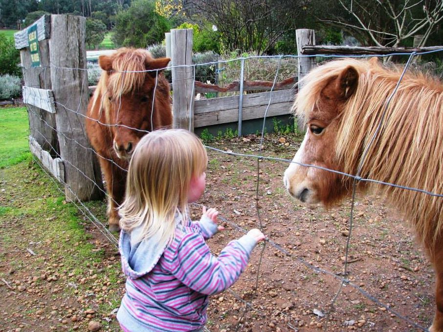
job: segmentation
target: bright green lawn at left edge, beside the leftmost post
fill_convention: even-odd
[[[0,168],[30,157],[26,107],[0,108]]]

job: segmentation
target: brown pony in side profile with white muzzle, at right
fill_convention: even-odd
[[[307,132],[293,162],[356,174],[400,69],[385,69],[377,59],[341,59],[312,70],[294,109]],[[387,107],[360,176],[443,194],[443,84],[408,72]],[[331,206],[352,192],[353,179],[291,163],[285,171],[288,192],[307,203]],[[359,182],[360,189],[368,187]],[[415,229],[436,272],[437,311],[430,328],[443,332],[443,198],[392,186],[375,185]]]

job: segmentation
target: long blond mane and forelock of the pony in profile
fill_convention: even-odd
[[[335,152],[343,171],[355,174],[363,150],[374,136],[402,68],[386,69],[373,60],[342,59],[313,70],[305,79],[295,108],[307,115],[321,90],[353,66],[358,86],[337,119]],[[405,74],[387,106],[382,125],[369,147],[360,176],[443,194],[443,85],[422,73]],[[427,248],[443,236],[443,198],[377,186],[406,215]]]

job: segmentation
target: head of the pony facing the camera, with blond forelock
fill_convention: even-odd
[[[159,72],[169,61],[154,59],[148,51],[133,48],[120,48],[112,55],[99,57],[103,72],[93,104],[100,103],[100,112],[105,112],[119,158],[129,159],[140,138],[155,129],[155,98],[164,99],[169,94],[167,82]],[[162,97],[158,97],[159,91]]]

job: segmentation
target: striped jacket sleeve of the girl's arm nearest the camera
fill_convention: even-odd
[[[201,234],[188,233],[178,244],[177,254],[171,262],[171,273],[199,293],[220,293],[240,277],[255,245],[253,237],[244,235],[229,242],[215,257]]]

